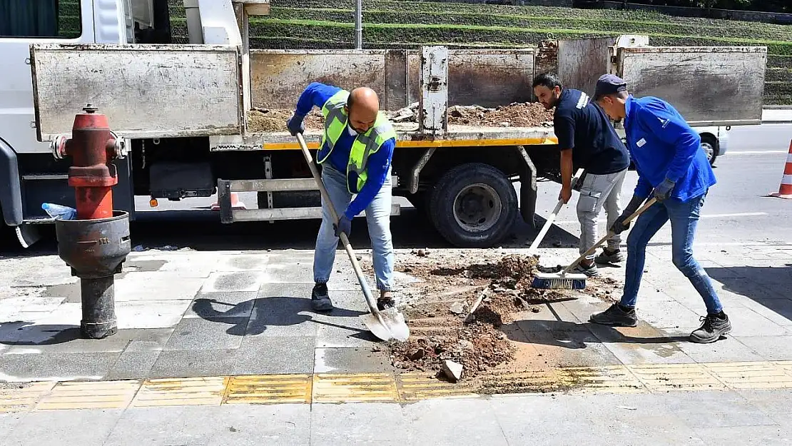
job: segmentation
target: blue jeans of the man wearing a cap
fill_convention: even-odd
[[[646,260],[646,245],[670,219],[674,265],[691,281],[704,299],[708,314],[722,311],[723,307],[712,288],[710,276],[706,275],[699,262],[693,258],[693,237],[705,196],[706,193],[684,202],[669,198],[662,203],[653,204],[635,221],[630,235],[627,236],[627,265],[621,301],[624,307],[635,307]]]

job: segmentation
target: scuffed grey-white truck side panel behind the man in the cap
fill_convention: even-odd
[[[619,48],[635,96],[662,97],[694,126],[760,124],[767,48]]]

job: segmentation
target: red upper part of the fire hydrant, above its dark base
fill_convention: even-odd
[[[60,136],[53,144],[55,158],[70,156],[69,185],[74,187],[77,219],[112,217],[112,186],[118,184],[116,166],[124,158],[123,141],[110,132],[107,116],[86,105],[74,116],[71,139]]]

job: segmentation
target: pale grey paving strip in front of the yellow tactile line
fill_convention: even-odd
[[[792,444],[790,397],[788,390],[675,391],[46,410],[0,414],[0,444],[780,446]]]

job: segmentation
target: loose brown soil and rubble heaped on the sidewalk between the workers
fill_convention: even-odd
[[[406,342],[388,344],[394,367],[441,377],[443,360],[453,360],[463,365],[466,380],[515,360],[520,352],[501,329],[520,320],[520,314],[539,311],[539,304],[574,298],[571,291],[531,288],[537,263],[535,256],[494,251],[400,255],[398,273],[419,281],[407,284],[399,296],[411,333]],[[364,268],[371,272],[368,262]],[[600,284],[608,286],[592,282],[588,292]],[[485,299],[465,322],[482,292]]]

